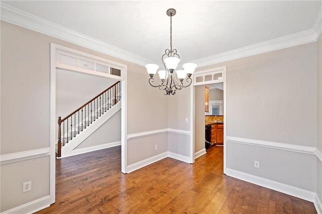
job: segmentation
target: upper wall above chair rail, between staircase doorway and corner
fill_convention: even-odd
[[[129,69],[128,69],[129,70]],[[168,127],[168,99],[163,91],[152,88],[145,67],[128,73],[127,133],[134,134]]]

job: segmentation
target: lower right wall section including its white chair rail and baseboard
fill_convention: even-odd
[[[318,205],[313,147],[227,136],[226,174]],[[260,168],[254,167],[260,162]]]

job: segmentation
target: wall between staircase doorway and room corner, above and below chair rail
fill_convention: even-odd
[[[129,69],[128,69],[129,70]],[[168,99],[163,91],[152,88],[142,66],[128,73],[127,132],[138,134],[168,127]],[[127,164],[131,165],[168,150],[168,135],[141,136],[128,140]],[[155,150],[154,146],[158,145]]]

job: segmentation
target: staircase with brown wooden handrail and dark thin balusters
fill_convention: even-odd
[[[63,147],[71,146],[71,141],[77,139],[79,145],[113,116],[120,109],[120,100],[121,83],[118,81],[63,119],[58,117],[57,157],[61,157]],[[107,113],[112,114],[107,116]]]

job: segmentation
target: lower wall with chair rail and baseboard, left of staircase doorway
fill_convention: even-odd
[[[32,213],[49,206],[52,200],[48,153],[48,148],[44,148],[2,155],[1,194],[6,197],[1,197],[1,213]],[[23,193],[23,183],[28,181],[31,191]]]

